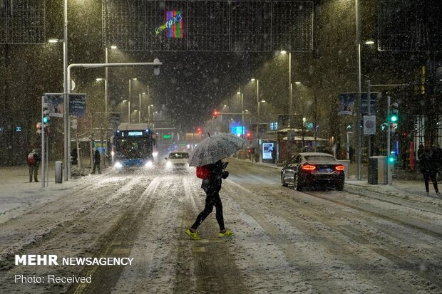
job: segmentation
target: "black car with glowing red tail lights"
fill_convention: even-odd
[[[345,167],[331,154],[304,152],[292,157],[281,170],[281,184],[302,191],[304,187],[344,189]]]

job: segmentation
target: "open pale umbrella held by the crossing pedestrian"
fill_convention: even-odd
[[[190,167],[213,164],[218,160],[230,157],[244,143],[245,140],[242,140],[242,138],[225,133],[207,137],[193,149],[192,154],[187,159],[187,163]]]

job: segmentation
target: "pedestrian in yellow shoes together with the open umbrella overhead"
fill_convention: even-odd
[[[237,149],[244,145],[245,141],[240,137],[230,134],[220,134],[208,137],[203,140],[190,154],[187,162],[193,167],[203,167],[207,170],[207,177],[202,179],[201,188],[205,191],[205,207],[198,214],[197,219],[192,226],[185,232],[190,238],[198,240],[197,228],[202,224],[209,214],[216,209],[216,219],[220,226],[218,237],[232,236],[232,231],[225,229],[224,217],[222,216],[222,202],[220,190],[222,179],[229,177],[229,172],[225,171],[227,162],[223,163],[221,159],[229,157]]]

